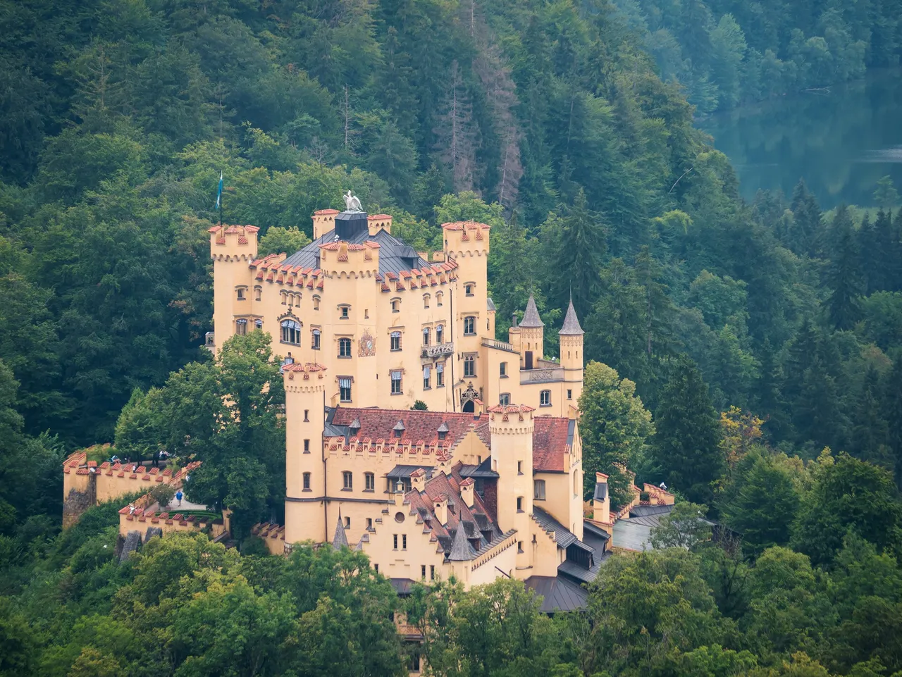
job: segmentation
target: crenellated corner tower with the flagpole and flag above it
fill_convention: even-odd
[[[253,278],[248,263],[257,258],[257,231],[253,225],[215,225],[210,228],[213,259],[213,331],[207,348],[214,354],[235,334],[236,323],[253,316]]]

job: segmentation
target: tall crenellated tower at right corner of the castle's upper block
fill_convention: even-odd
[[[471,384],[480,390],[485,383],[488,365],[479,363],[483,336],[494,338],[489,317],[487,261],[489,258],[489,226],[474,221],[442,224],[444,253],[457,263],[456,282],[452,301],[454,314],[450,340],[455,344],[456,377],[463,379],[455,392],[460,406],[460,391]],[[455,407],[455,408],[456,408]],[[474,403],[467,402],[465,410],[473,411]]]

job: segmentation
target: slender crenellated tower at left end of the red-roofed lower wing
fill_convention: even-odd
[[[285,543],[328,540],[323,430],[326,426],[326,367],[286,364]]]

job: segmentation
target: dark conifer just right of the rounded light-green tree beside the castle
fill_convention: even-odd
[[[652,453],[667,484],[686,499],[710,505],[713,482],[723,471],[721,430],[708,386],[685,355],[671,364],[655,426]]]

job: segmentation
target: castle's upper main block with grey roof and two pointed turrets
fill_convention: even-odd
[[[560,360],[544,359],[545,327],[530,297],[508,341],[495,340],[488,296],[489,226],[444,224],[442,252],[391,235],[391,216],[313,215],[314,241],[257,257],[257,228],[210,229],[214,332],[207,346],[262,329],[286,361],[329,368],[327,403],[479,412],[510,403],[576,416],[583,330],[571,304]]]

